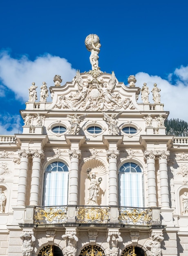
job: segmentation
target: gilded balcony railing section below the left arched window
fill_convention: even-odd
[[[56,224],[67,221],[66,206],[41,206],[35,207],[35,224]]]

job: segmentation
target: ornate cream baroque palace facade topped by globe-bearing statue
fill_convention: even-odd
[[[150,103],[85,45],[92,69],[38,102],[32,83],[22,134],[0,136],[0,255],[186,256],[188,138],[166,135],[156,84]]]

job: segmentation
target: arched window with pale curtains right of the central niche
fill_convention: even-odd
[[[119,169],[119,203],[124,207],[143,207],[143,173],[138,164],[128,162]]]

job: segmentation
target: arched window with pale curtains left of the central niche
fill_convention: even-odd
[[[63,162],[53,162],[44,174],[43,205],[67,205],[68,167]]]

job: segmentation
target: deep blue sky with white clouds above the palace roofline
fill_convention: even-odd
[[[113,70],[125,84],[134,74],[139,87],[157,83],[169,118],[188,121],[187,12],[185,0],[2,1],[0,134],[22,129],[19,110],[25,109],[32,82],[39,89],[43,81],[53,85],[55,74],[65,83],[77,69],[91,69],[88,34],[101,40],[103,72]]]

